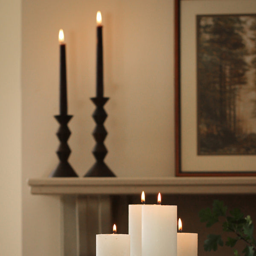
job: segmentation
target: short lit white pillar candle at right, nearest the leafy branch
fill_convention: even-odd
[[[182,224],[179,219],[179,230]],[[197,256],[198,255],[198,234],[197,233],[177,233],[177,256]]]

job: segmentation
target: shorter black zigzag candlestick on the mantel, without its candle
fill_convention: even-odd
[[[67,127],[67,123],[73,116],[59,115],[54,117],[60,124],[60,128],[57,131],[57,137],[61,144],[56,151],[60,163],[58,164],[57,168],[49,175],[49,177],[78,177],[76,172],[67,161],[71,153],[70,147],[67,145],[67,140],[71,134],[69,128]]]

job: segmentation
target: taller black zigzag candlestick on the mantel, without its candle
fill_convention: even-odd
[[[115,177],[116,175],[104,163],[104,158],[108,153],[104,145],[104,140],[108,134],[103,123],[107,118],[107,113],[103,106],[109,98],[96,97],[91,98],[91,101],[96,105],[96,110],[93,112],[93,119],[96,122],[96,127],[93,131],[93,137],[96,140],[96,145],[93,148],[93,155],[96,158],[96,163],[89,169],[84,177]]]

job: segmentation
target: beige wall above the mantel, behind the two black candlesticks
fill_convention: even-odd
[[[67,43],[72,154],[80,176],[94,163],[96,12],[104,25],[106,163],[118,176],[173,174],[173,3],[170,0],[23,0],[24,158],[32,176],[55,167],[58,30]],[[35,140],[37,143],[35,143]],[[36,145],[35,145],[36,144]],[[32,159],[29,152],[38,153]],[[43,156],[43,157],[41,157]],[[160,164],[159,164],[160,163]],[[26,169],[26,166],[24,166]]]

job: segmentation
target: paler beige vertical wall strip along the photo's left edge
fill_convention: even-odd
[[[21,256],[21,1],[0,1],[0,254]]]

